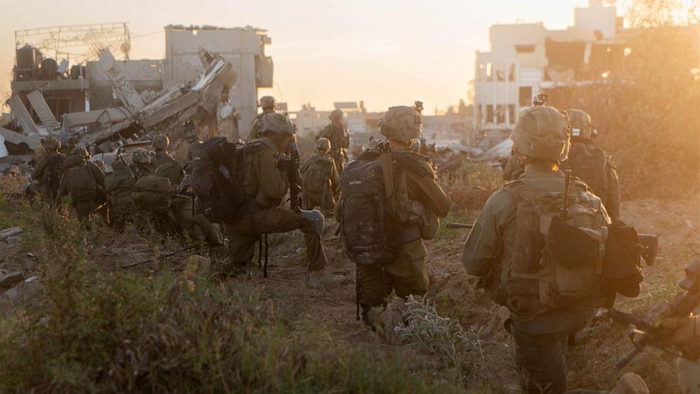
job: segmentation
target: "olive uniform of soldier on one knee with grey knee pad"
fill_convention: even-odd
[[[289,191],[289,178],[278,168],[280,153],[269,138],[249,143],[263,143],[265,148],[246,156],[243,189],[251,199],[246,214],[237,222],[227,223],[231,269],[253,258],[255,242],[263,234],[304,232],[309,270],[325,268],[327,263],[318,234],[313,226],[294,210],[279,208]]]

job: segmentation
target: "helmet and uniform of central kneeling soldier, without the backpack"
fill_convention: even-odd
[[[422,130],[421,123],[414,123],[410,129],[405,129],[408,123],[405,118],[418,119],[420,114],[411,107],[391,107],[385,118],[385,126],[382,126],[382,134],[390,138],[392,145],[397,145],[408,155],[409,160],[415,160],[420,171],[406,170],[406,192],[410,201],[417,201],[423,206],[426,213],[421,218],[423,226],[432,228],[431,236],[435,236],[439,227],[438,217],[445,217],[449,213],[452,203],[449,197],[438,184],[437,176],[433,171],[430,160],[423,155],[411,150],[411,140],[418,138]],[[390,124],[402,125],[390,128]],[[400,148],[402,145],[406,148]],[[410,154],[408,154],[410,153]],[[339,217],[342,215],[339,214]],[[381,315],[385,309],[387,297],[396,291],[398,297],[408,297],[411,294],[423,296],[428,291],[428,268],[426,267],[426,246],[421,236],[425,234],[419,225],[410,223],[398,223],[397,226],[405,234],[415,234],[412,239],[406,239],[399,246],[396,259],[383,268],[358,265],[358,280],[360,285],[360,304],[362,306],[364,321],[371,326],[381,325]]]

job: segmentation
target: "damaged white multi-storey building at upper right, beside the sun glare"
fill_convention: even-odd
[[[547,30],[542,23],[491,26],[490,51],[476,52],[475,129],[507,137],[538,93],[600,76],[624,56],[623,35],[617,8],[602,0],[575,8],[574,25],[565,30]]]

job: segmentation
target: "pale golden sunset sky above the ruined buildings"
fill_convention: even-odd
[[[476,49],[494,23],[572,25],[585,0],[23,0],[3,1],[0,97],[10,90],[14,31],[54,25],[129,23],[131,59],[164,56],[163,26],[251,25],[269,30],[271,90],[296,110],[310,102],[364,100],[372,110],[423,100],[445,109],[466,100]],[[619,12],[619,11],[618,11]],[[153,33],[153,34],[148,34]],[[140,37],[138,37],[141,35]],[[4,109],[8,111],[8,109]]]

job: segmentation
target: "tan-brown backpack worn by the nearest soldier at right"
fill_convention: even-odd
[[[601,274],[608,223],[600,201],[578,180],[565,214],[563,191],[533,191],[521,180],[505,190],[518,201],[505,282],[510,311],[528,319],[553,309],[605,306]]]

